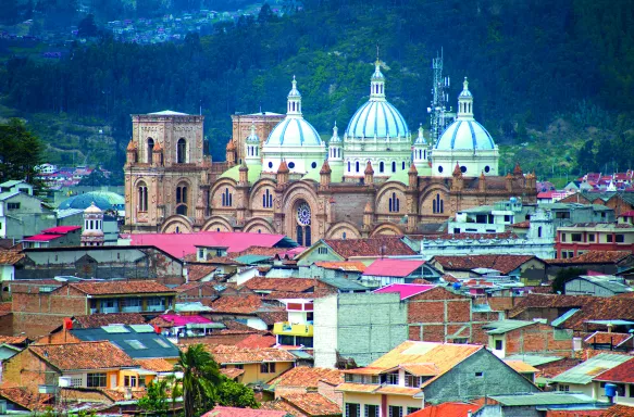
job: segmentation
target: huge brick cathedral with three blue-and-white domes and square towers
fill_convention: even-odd
[[[464,79],[456,119],[435,143],[387,101],[378,62],[368,102],[325,142],[303,117],[297,80],[286,114],[232,116],[226,161],[203,155],[203,116],[133,115],[125,173],[128,232],[198,230],[319,239],[420,233],[457,211],[536,199],[535,175],[498,173],[498,148],[473,117]]]

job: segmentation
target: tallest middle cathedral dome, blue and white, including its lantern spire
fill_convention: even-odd
[[[400,112],[385,99],[385,77],[378,62],[370,85],[370,100],[350,119],[348,138],[407,138],[410,131]]]

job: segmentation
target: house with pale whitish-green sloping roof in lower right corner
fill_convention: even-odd
[[[555,387],[556,391],[581,392],[592,399],[599,400],[605,393],[601,390],[600,383],[594,381],[595,378],[600,377],[607,370],[631,358],[632,356],[627,355],[601,353],[551,378],[550,383]]]

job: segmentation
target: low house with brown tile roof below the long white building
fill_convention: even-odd
[[[489,268],[523,282],[546,280],[546,263],[534,255],[434,256],[428,263],[442,274],[456,278],[476,278],[476,268]]]

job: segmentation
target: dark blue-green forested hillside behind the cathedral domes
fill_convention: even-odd
[[[111,167],[123,162],[130,113],[198,113],[201,106],[213,156],[222,159],[229,114],[284,112],[293,75],[304,117],[324,137],[335,121],[346,126],[368,99],[377,45],[388,100],[410,129],[426,126],[431,60],[443,48],[451,102],[468,76],[475,116],[500,143],[530,141],[531,131],[562,117],[579,128],[607,129],[586,146],[589,168],[604,163],[595,155],[601,140],[630,138],[632,1],[306,0],[284,17],[264,7],[259,16],[214,28],[178,45],[104,37],[76,45],[54,64],[18,56],[0,70],[0,89],[22,114],[104,118],[119,149]],[[614,157],[624,159],[621,166],[634,160],[622,152]],[[539,168],[538,161],[533,165]]]

